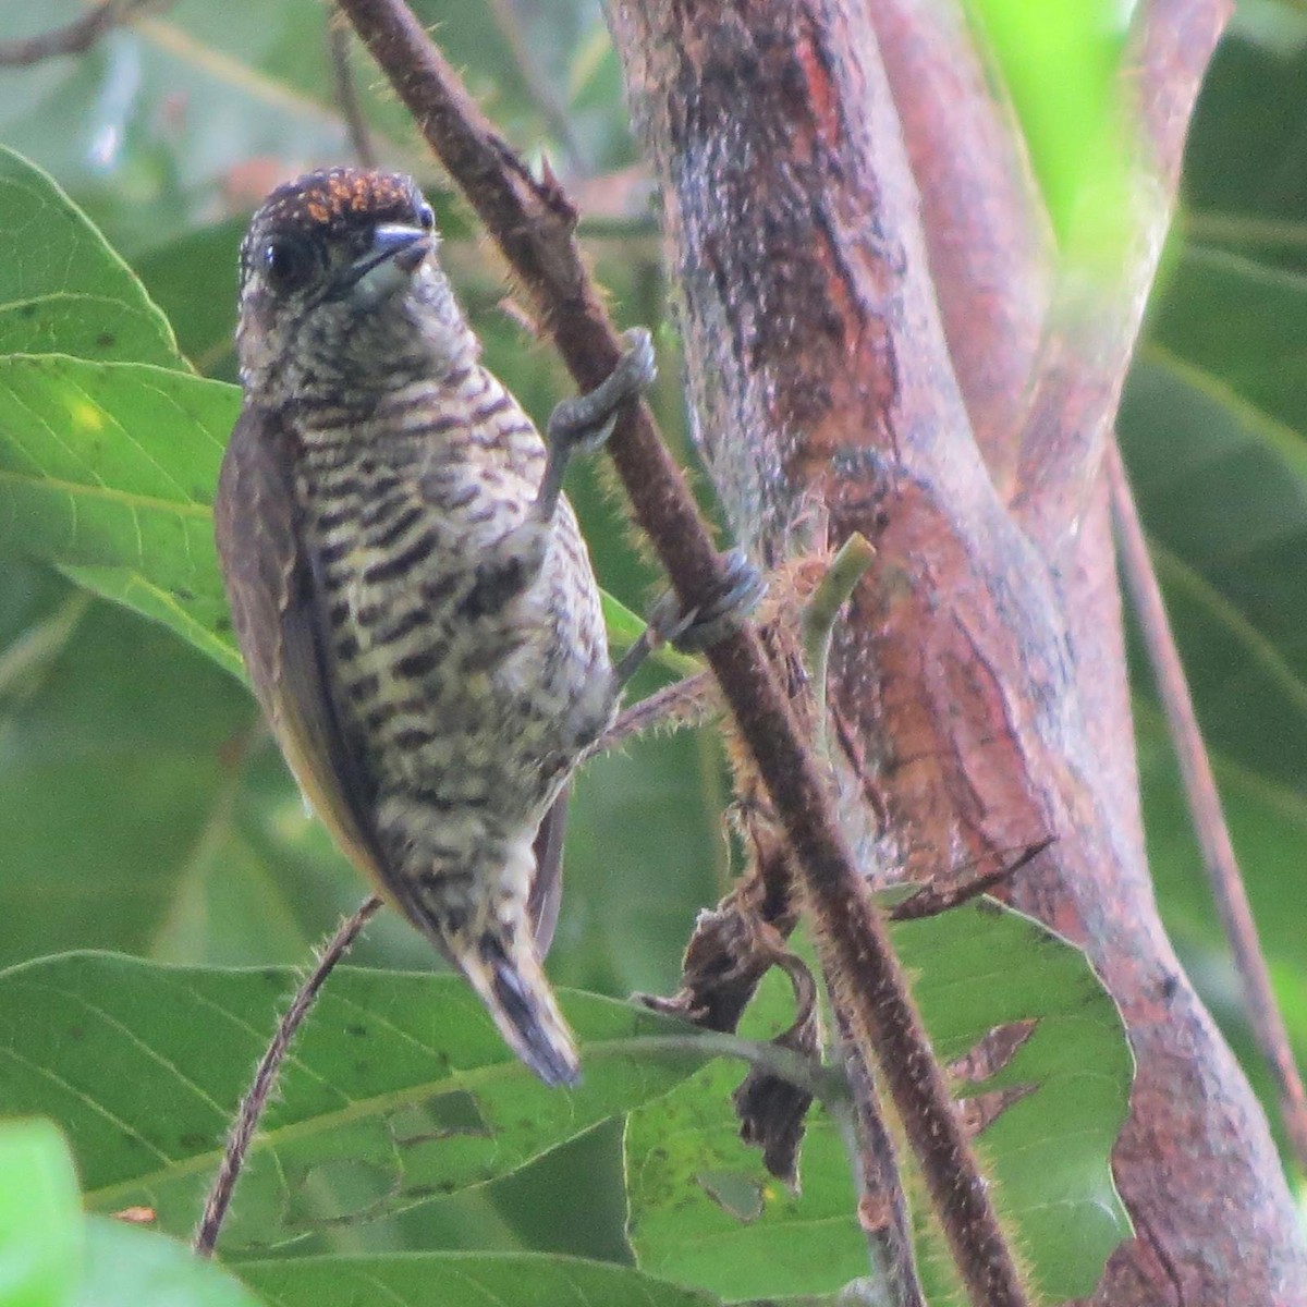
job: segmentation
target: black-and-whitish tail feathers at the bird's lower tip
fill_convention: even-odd
[[[576,1044],[540,968],[529,933],[508,948],[497,935],[484,935],[457,962],[508,1047],[546,1085],[575,1085],[580,1080]]]

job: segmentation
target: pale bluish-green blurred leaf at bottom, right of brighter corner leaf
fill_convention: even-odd
[[[86,1273],[72,1307],[259,1307],[259,1299],[175,1239],[90,1217]]]

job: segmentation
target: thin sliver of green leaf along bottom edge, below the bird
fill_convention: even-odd
[[[712,1307],[712,1299],[629,1266],[541,1253],[413,1253],[243,1263],[267,1307]]]

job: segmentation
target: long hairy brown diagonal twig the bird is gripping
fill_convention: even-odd
[[[574,207],[553,178],[529,175],[400,0],[341,0],[341,8],[533,297],[578,386],[592,389],[616,366],[621,345],[572,239]],[[608,448],[682,605],[711,603],[725,588],[724,570],[646,405],[620,422]],[[988,1185],[885,923],[758,634],[745,626],[707,657],[795,852],[834,1001],[853,1040],[874,1051],[972,1302],[1023,1307],[1026,1294]]]

